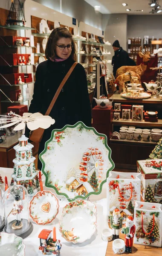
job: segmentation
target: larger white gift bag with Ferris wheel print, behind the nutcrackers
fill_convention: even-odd
[[[127,215],[134,215],[135,201],[140,201],[141,174],[134,172],[109,172],[107,178],[107,221],[118,208],[123,223]]]

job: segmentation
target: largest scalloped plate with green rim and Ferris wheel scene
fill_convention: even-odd
[[[106,135],[83,122],[53,130],[39,158],[46,186],[69,201],[100,194],[115,167]]]

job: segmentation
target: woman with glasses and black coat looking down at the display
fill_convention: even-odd
[[[43,115],[46,113],[62,80],[75,63],[75,44],[68,29],[59,27],[52,31],[45,55],[47,61],[40,63],[36,70],[34,94],[29,113],[40,112]],[[91,126],[87,77],[81,64],[76,64],[74,67],[49,116],[55,119],[55,124],[44,131],[38,154],[43,151],[44,144],[51,137],[53,129],[74,125],[78,121]],[[41,166],[38,160],[38,169],[41,169]]]

